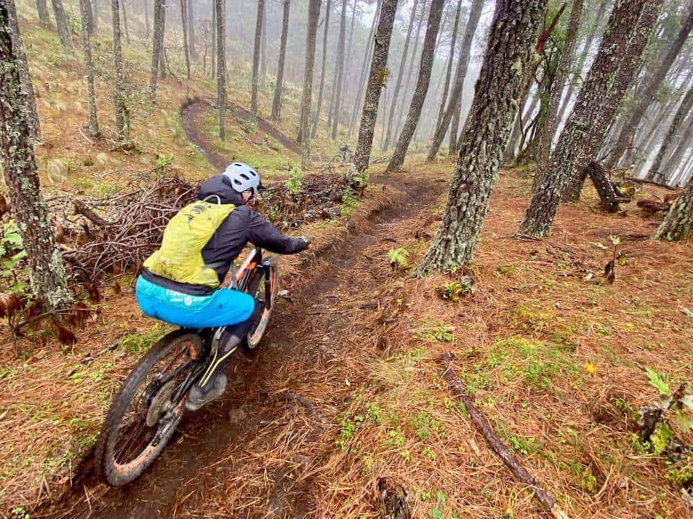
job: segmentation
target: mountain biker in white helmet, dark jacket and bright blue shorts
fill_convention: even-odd
[[[310,246],[309,239],[281,234],[252,209],[262,187],[257,172],[238,162],[202,183],[195,201],[169,221],[161,248],[147,258],[137,279],[135,295],[147,316],[186,328],[227,327],[218,361],[188,395],[190,410],[224,393],[227,378],[219,368],[262,311],[251,295],[219,288],[231,263],[248,242],[279,254]]]

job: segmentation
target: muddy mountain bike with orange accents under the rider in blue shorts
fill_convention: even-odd
[[[253,248],[229,277],[232,288],[262,304],[247,336],[231,351],[254,349],[277,300],[277,258],[263,259],[262,249]],[[108,484],[121,486],[137,479],[164,450],[186,410],[188,392],[220,362],[224,329],[171,331],[130,372],[111,403],[96,444],[97,470]]]

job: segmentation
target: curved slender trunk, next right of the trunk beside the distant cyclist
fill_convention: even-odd
[[[407,149],[409,149],[409,144],[414,136],[414,131],[416,131],[416,125],[419,124],[421,109],[423,108],[423,102],[426,100],[428,85],[431,79],[433,57],[435,54],[435,41],[440,27],[440,19],[443,14],[443,3],[444,0],[432,0],[430,12],[428,14],[426,37],[423,39],[419,79],[416,81],[412,104],[409,107],[409,113],[407,113],[407,120],[405,120],[402,133],[399,136],[392,158],[387,165],[387,171],[397,171],[401,169],[407,154]]]

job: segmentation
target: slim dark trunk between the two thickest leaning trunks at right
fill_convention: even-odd
[[[565,79],[568,76],[570,64],[574,57],[575,39],[577,39],[577,30],[580,27],[582,18],[583,0],[574,0],[572,9],[570,10],[570,19],[568,19],[568,30],[565,32],[565,42],[563,43],[563,51],[558,63],[556,71],[556,79],[551,91],[551,98],[546,109],[543,131],[541,140],[539,141],[538,153],[536,155],[536,164],[538,168],[546,167],[551,154],[551,143],[556,134],[556,125],[558,124],[559,104],[561,104],[561,95],[563,95],[563,86]]]

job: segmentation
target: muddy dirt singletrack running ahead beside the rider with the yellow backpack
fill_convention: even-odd
[[[200,134],[202,109],[203,104],[193,103],[182,111],[193,142]],[[204,140],[195,143],[202,146]],[[306,262],[294,279],[283,280],[282,286],[290,286],[290,300],[280,300],[254,358],[237,353],[227,365],[225,397],[184,415],[164,453],[139,480],[110,488],[85,468],[61,500],[33,516],[315,516],[311,474],[334,448],[321,436],[337,427],[321,409],[335,410],[340,402],[330,403],[324,395],[318,405],[291,388],[322,376],[336,358],[333,349],[344,349],[354,322],[336,304],[337,294],[358,297],[377,282],[363,272],[369,261],[363,251],[392,242],[393,226],[419,217],[445,186],[406,173],[374,180],[371,189],[397,190],[403,201],[371,214],[359,232]],[[277,448],[293,454],[277,455]]]

